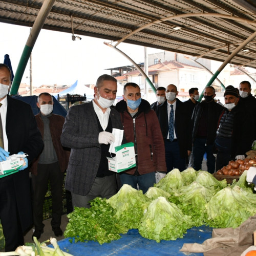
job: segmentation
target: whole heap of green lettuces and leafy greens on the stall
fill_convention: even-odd
[[[160,242],[182,238],[193,226],[236,228],[256,214],[256,194],[246,173],[230,185],[201,170],[173,169],[145,195],[123,185],[108,200],[96,198],[91,208],[75,208],[68,215],[65,237],[102,244],[134,228]]]

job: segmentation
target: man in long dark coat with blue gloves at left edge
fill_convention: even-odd
[[[28,165],[41,152],[44,143],[30,105],[8,96],[11,84],[9,68],[0,64],[0,113],[4,145],[1,161],[13,154],[28,154],[27,164],[19,172],[0,179],[0,218],[5,250],[24,244],[23,233],[33,224]],[[0,123],[1,124],[1,123]]]

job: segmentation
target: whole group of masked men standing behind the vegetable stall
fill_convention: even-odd
[[[200,170],[205,153],[207,171],[214,173],[231,159],[244,159],[255,139],[256,99],[248,81],[241,82],[239,89],[226,88],[224,106],[215,101],[211,86],[204,89],[202,102],[198,102],[198,88],[191,88],[189,99],[182,102],[175,84],[157,88],[157,101],[150,105],[141,98],[138,84],[128,82],[123,100],[113,106],[117,80],[101,75],[94,99],[72,106],[66,118],[53,114],[49,93],[38,96],[40,112],[34,116],[28,104],[8,95],[10,85],[11,72],[0,64],[0,160],[12,154],[28,155],[22,171],[0,179],[6,251],[24,244],[23,234],[32,224],[32,239],[44,232],[42,211],[48,184],[52,230],[55,236],[62,235],[66,170],[65,188],[71,193],[73,209],[89,208],[91,200],[108,199],[123,184],[145,193],[174,168]],[[113,129],[123,130],[122,144],[133,142],[135,147],[136,166],[120,174],[109,170],[106,158],[116,139]]]

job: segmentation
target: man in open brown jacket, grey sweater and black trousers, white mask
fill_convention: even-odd
[[[55,237],[62,236],[60,229],[62,214],[62,186],[63,172],[68,167],[69,151],[64,149],[60,142],[60,135],[65,118],[53,114],[53,98],[49,93],[41,93],[37,98],[39,114],[35,116],[38,129],[44,140],[44,150],[33,162],[32,173],[33,188],[33,219],[35,231],[32,235],[37,239],[44,232],[43,206],[45,195],[50,182],[52,194],[52,220],[51,226]]]

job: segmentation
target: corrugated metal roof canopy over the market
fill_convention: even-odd
[[[56,0],[42,28],[224,61],[256,31],[252,0]],[[0,22],[32,27],[43,0],[0,1]],[[175,28],[180,28],[176,30]],[[245,51],[246,50],[246,51]],[[231,63],[256,68],[256,40]]]

